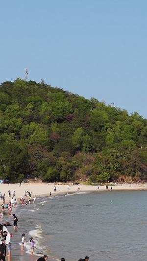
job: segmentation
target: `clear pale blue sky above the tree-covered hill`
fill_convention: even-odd
[[[57,86],[147,118],[147,0],[0,0],[0,83]]]

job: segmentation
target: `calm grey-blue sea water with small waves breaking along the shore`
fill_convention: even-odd
[[[147,259],[147,191],[77,192],[37,199],[14,211],[19,230],[12,232],[11,261],[145,261]],[[13,223],[13,217],[4,221]],[[25,251],[21,236],[25,233]],[[35,238],[31,256],[30,237]]]

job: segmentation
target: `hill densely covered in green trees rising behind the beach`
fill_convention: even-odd
[[[0,85],[0,178],[147,180],[147,119],[35,81]]]

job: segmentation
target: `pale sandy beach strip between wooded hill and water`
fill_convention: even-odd
[[[54,192],[54,186],[56,187],[56,191]],[[147,190],[147,183],[141,184],[110,184],[109,190]],[[22,186],[20,184],[0,184],[0,192],[2,194],[5,194],[5,202],[8,202],[10,198],[8,197],[8,190],[11,190],[11,197],[13,197],[13,191],[15,191],[15,198],[17,198],[18,203],[19,199],[22,198],[22,196],[25,195],[25,191],[32,191],[32,197],[36,195],[38,196],[45,196],[49,195],[51,192],[51,195],[55,194],[63,194],[63,193],[73,193],[76,192],[78,187],[80,188],[78,191],[104,191],[106,190],[105,186],[88,186],[88,185],[72,185],[69,184],[69,190],[67,185],[56,185],[56,184],[50,184],[50,183],[22,183]]]

